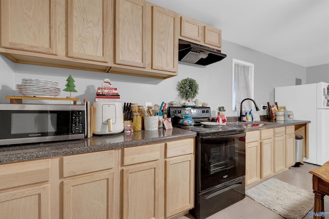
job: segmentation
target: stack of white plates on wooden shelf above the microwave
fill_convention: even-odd
[[[16,85],[16,92],[24,96],[55,97],[61,94],[58,82],[43,79],[23,78],[21,85]]]

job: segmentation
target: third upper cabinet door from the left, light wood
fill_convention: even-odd
[[[147,49],[146,10],[146,2],[142,0],[116,1],[116,64],[145,68]]]

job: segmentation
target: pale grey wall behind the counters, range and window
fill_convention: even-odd
[[[0,103],[9,103],[9,99],[5,99],[6,95],[20,95],[15,93],[15,85],[21,84],[22,78],[49,79],[58,82],[60,88],[64,89],[68,75],[75,79],[78,91],[72,95],[82,101],[86,98],[87,101],[93,102],[97,87],[102,85],[104,78],[109,78],[112,86],[118,88],[122,103],[169,103],[178,94],[177,83],[183,78],[191,77],[199,84],[199,94],[196,98],[208,102],[213,115],[218,107],[224,106],[227,116],[235,116],[239,112],[231,110],[232,58],[254,64],[254,99],[259,107],[267,102],[274,102],[275,87],[295,85],[296,77],[301,78],[303,84],[306,82],[305,67],[224,40],[222,52],[227,54],[226,58],[206,67],[179,62],[178,76],[168,79],[17,64],[0,55]],[[61,97],[67,95],[68,92],[62,91]],[[60,102],[51,101],[51,104],[56,103]]]

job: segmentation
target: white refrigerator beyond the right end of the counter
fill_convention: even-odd
[[[295,120],[310,121],[309,156],[304,162],[323,165],[329,161],[329,83],[278,87],[275,101],[293,111]]]

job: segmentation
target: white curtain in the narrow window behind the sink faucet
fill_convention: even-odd
[[[249,67],[234,64],[234,104],[235,110],[240,110],[241,101],[251,98],[251,88],[249,80]],[[243,102],[243,110],[252,109],[252,101]]]

